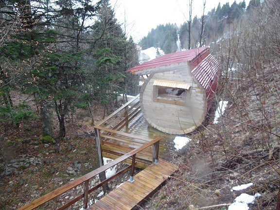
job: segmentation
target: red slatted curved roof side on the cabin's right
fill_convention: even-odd
[[[208,55],[193,70],[193,76],[204,88],[207,97],[208,110],[214,99],[219,78],[220,65],[213,55]]]

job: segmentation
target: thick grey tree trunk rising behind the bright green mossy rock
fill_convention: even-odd
[[[53,136],[53,127],[49,110],[49,103],[46,100],[40,103],[40,115],[42,121],[43,134]]]

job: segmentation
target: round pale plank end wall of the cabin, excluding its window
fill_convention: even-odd
[[[165,67],[166,68],[166,67]],[[169,134],[185,134],[196,129],[205,119],[206,94],[192,73],[188,64],[173,65],[170,71],[150,74],[140,90],[141,110],[151,126]],[[191,87],[186,90],[186,102],[181,105],[173,102],[162,102],[155,95],[158,90],[154,87],[161,81],[187,83]],[[163,100],[164,101],[164,100]]]

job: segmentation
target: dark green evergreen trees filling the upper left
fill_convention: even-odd
[[[131,37],[123,32],[108,0],[3,0],[0,2],[0,121],[7,126],[40,116],[52,136],[50,110],[59,123],[77,108],[100,103],[113,110],[117,95],[137,94],[137,79],[125,74],[138,64]],[[12,92],[32,95],[37,115]]]

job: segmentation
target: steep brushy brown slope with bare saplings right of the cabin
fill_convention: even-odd
[[[275,210],[280,205],[280,2],[266,0],[233,21],[211,53],[222,72],[217,123],[174,153],[179,172],[146,209]],[[221,110],[222,111],[222,110]]]

